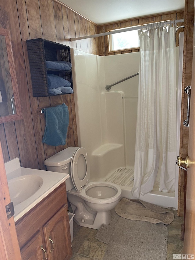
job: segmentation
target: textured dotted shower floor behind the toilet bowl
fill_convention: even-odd
[[[134,180],[134,170],[124,167],[118,168],[105,181],[109,181],[118,185],[131,187]]]

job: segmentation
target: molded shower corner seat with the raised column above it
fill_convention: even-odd
[[[123,95],[123,92],[101,93],[106,111],[105,130],[102,134],[104,143],[92,152],[93,180],[104,180],[117,168],[125,167]]]

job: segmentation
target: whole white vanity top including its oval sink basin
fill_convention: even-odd
[[[5,171],[15,222],[69,178],[66,173],[21,167],[18,158],[5,162]]]

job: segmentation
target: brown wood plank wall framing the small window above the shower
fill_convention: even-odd
[[[181,12],[173,12],[168,14],[162,14],[157,16],[147,16],[147,17],[141,17],[133,20],[126,20],[121,21],[117,23],[112,24],[106,24],[98,27],[99,33],[107,32],[110,29],[117,29],[119,27],[128,27],[128,26],[135,26],[143,23],[150,23],[154,21],[160,21],[160,20],[180,20],[184,18],[184,11]],[[177,23],[178,26],[183,25],[184,23]],[[178,40],[179,40],[179,32],[183,31],[183,29],[179,29],[176,34],[176,43],[178,46]],[[114,52],[114,53],[108,53],[108,36],[101,36],[99,37],[99,55],[105,56],[105,55],[115,55],[115,54],[121,54],[121,53],[129,53],[129,52],[139,52],[139,49],[134,49],[132,51],[124,51],[124,52]]]

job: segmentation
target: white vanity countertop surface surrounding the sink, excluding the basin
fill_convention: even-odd
[[[33,208],[38,202],[44,199],[48,194],[50,194],[55,188],[57,188],[61,183],[69,178],[69,174],[57,173],[51,171],[30,169],[20,167],[19,159],[14,158],[13,160],[5,163],[5,170],[8,180],[8,186],[10,190],[9,181],[13,178],[19,176],[39,176],[42,178],[42,185],[38,188],[38,190],[32,194],[29,198],[20,202],[18,205],[14,205],[14,221],[16,222],[20,219],[25,213],[27,213],[31,208]],[[14,188],[13,188],[14,189]],[[25,189],[25,187],[24,187]],[[28,193],[28,187],[26,187],[25,193]],[[11,201],[14,200],[12,198],[12,191],[10,191]]]

